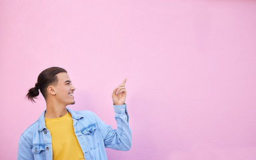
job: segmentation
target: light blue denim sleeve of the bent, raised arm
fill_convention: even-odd
[[[131,149],[131,129],[129,127],[129,115],[126,109],[127,105],[114,105],[115,120],[117,129],[112,129],[111,125],[106,125],[95,113],[95,119],[101,130],[105,147],[120,151],[129,151]]]

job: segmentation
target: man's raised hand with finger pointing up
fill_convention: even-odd
[[[123,105],[125,104],[126,99],[126,89],[125,89],[125,82],[127,79],[124,79],[121,85],[116,87],[112,93],[112,99],[114,105]]]

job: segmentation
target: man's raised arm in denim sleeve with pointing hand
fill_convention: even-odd
[[[131,129],[129,127],[127,105],[125,104],[127,96],[125,89],[126,80],[127,79],[124,79],[112,93],[117,129],[112,129],[110,125],[106,125],[94,114],[99,128],[101,129],[105,147],[121,151],[128,151],[131,149]]]

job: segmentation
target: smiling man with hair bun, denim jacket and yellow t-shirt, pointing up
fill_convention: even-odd
[[[112,93],[117,120],[117,129],[112,129],[91,111],[67,108],[75,104],[75,87],[65,69],[51,67],[42,71],[27,98],[35,102],[40,90],[46,110],[21,135],[17,159],[107,159],[105,147],[131,149],[125,82]]]

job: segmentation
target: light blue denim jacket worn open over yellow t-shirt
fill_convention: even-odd
[[[107,159],[105,147],[128,151],[131,149],[131,129],[127,105],[114,105],[117,129],[106,125],[91,111],[73,111],[75,135],[85,159]],[[45,127],[45,112],[19,139],[17,159],[53,159],[51,133]]]

